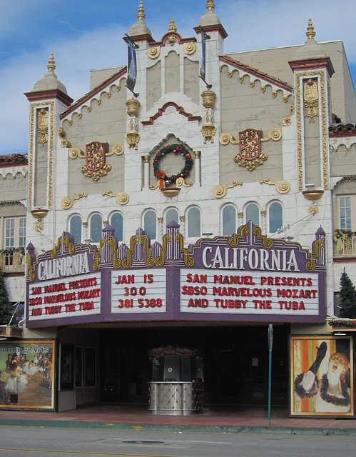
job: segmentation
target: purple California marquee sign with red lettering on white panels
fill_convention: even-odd
[[[130,246],[111,226],[98,246],[63,233],[36,258],[28,246],[28,327],[106,321],[325,321],[325,233],[312,249],[249,222],[184,247],[176,223],[162,245],[142,229]]]

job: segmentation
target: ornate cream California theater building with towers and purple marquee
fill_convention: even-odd
[[[53,56],[26,93],[22,364],[39,351],[36,376],[51,387],[35,406],[149,401],[172,413],[178,381],[194,384],[190,401],[203,383],[205,403],[266,404],[273,324],[273,404],[290,397],[292,415],[315,414],[294,378],[320,341],[320,371],[334,351],[353,369],[353,327],[335,336],[333,320],[344,268],[356,283],[356,127],[340,123],[356,119],[356,98],[342,43],[317,44],[310,21],[304,46],[225,55],[213,0],[198,39],[172,19],[155,41],[142,4],[137,18],[136,96],[122,66],[91,72],[73,102]],[[355,414],[352,369],[351,399],[322,414]],[[165,406],[161,383],[173,388]],[[6,392],[4,407],[29,406],[26,390]]]

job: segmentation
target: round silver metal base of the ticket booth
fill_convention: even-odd
[[[203,410],[203,382],[156,381],[148,383],[148,388],[152,414],[189,416]]]

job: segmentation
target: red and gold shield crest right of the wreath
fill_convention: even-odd
[[[268,159],[267,154],[261,153],[262,131],[246,129],[239,134],[240,154],[234,157],[234,161],[240,166],[245,166],[252,171],[256,166],[263,164]]]

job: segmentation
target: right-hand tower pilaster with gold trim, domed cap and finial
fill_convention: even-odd
[[[330,58],[315,41],[309,19],[307,41],[297,50],[290,68],[295,78],[298,190],[329,187],[328,126],[330,124]],[[316,119],[315,119],[316,118]]]

